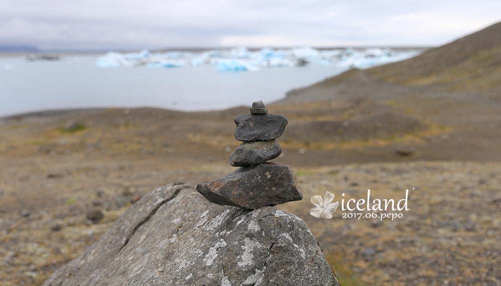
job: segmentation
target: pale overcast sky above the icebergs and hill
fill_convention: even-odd
[[[435,46],[498,21],[501,0],[0,0],[0,45]]]

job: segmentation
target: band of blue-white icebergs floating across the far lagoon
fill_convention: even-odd
[[[184,67],[214,65],[218,71],[258,70],[260,67],[293,67],[306,64],[337,65],[340,67],[368,68],[388,62],[403,60],[420,53],[420,50],[395,50],[391,48],[335,48],[316,49],[311,46],[288,49],[264,47],[250,51],[246,47],[221,48],[203,52],[171,50],[120,53],[110,51],[100,57],[96,65]]]

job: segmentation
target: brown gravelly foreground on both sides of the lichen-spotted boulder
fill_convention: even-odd
[[[138,197],[174,181],[206,182],[228,164],[175,168],[146,158],[114,160],[41,155],[0,167],[0,284],[41,284],[96,241]],[[5,157],[4,157],[5,158]],[[3,159],[4,159],[3,158]],[[501,163],[404,162],[295,168],[305,198],[279,205],[303,218],[345,285],[499,285]],[[414,189],[412,189],[414,187]],[[310,197],[405,197],[393,220],[332,219],[308,213]],[[345,196],[342,196],[345,193]],[[340,201],[341,202],[341,201]],[[89,209],[104,213],[99,223]],[[366,210],[352,211],[363,213]],[[379,213],[387,213],[379,211]]]

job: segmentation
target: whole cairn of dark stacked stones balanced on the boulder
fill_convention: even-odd
[[[243,141],[229,155],[228,175],[196,186],[213,203],[256,209],[301,200],[301,188],[291,166],[267,162],[282,153],[277,142],[287,126],[284,115],[269,114],[263,101],[253,102],[250,114],[234,118],[235,139]]]

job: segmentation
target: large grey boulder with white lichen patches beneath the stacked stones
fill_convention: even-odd
[[[339,285],[308,225],[264,207],[210,203],[168,184],[132,205],[44,286]]]

